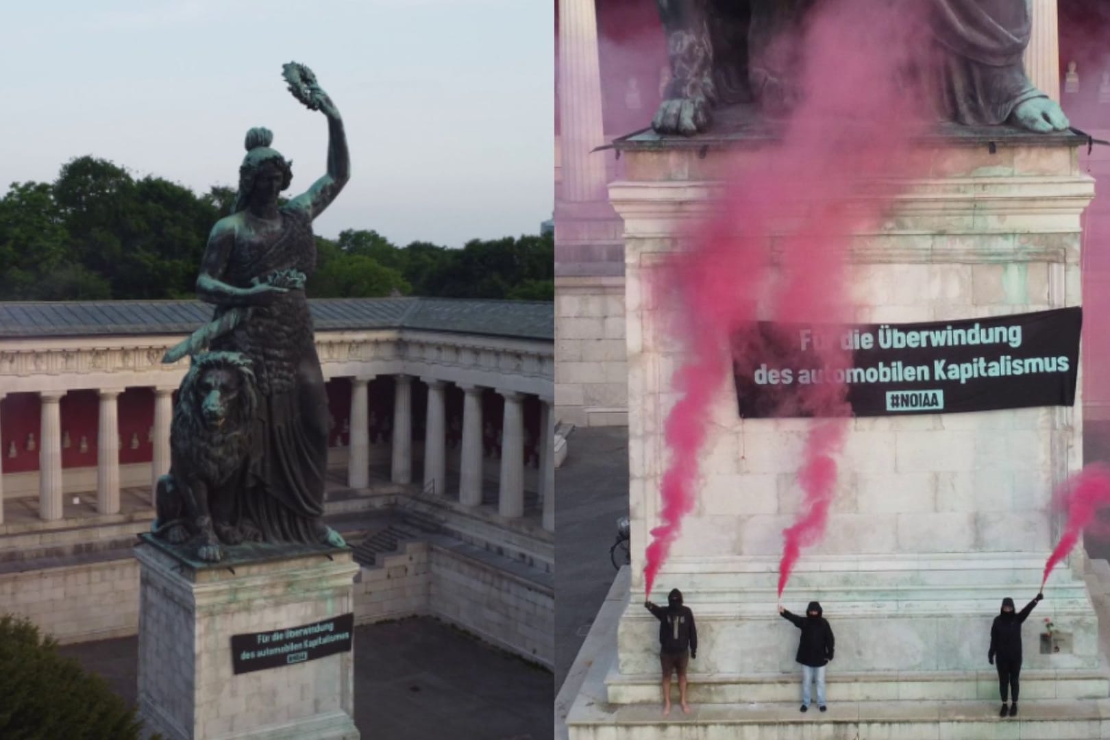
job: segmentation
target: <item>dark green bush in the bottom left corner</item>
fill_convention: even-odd
[[[135,710],[27,619],[0,617],[0,738],[138,740]]]

